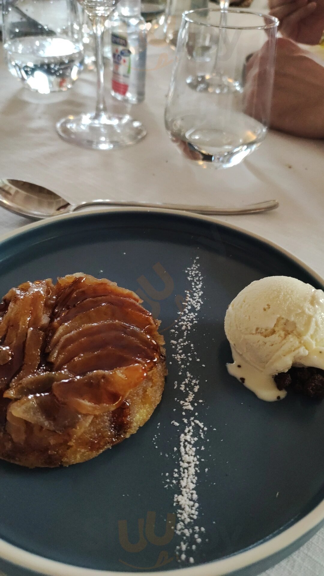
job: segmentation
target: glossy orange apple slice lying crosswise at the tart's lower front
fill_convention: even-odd
[[[55,382],[52,391],[61,403],[81,414],[103,414],[118,408],[144,378],[144,366],[135,364],[111,372],[96,370],[83,377]]]

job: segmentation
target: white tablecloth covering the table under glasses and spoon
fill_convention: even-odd
[[[137,146],[110,153],[71,146],[55,132],[63,116],[93,108],[93,73],[84,73],[65,94],[39,96],[21,88],[0,54],[1,177],[43,184],[73,202],[106,197],[224,207],[276,198],[276,211],[221,221],[277,242],[324,276],[324,142],[270,132],[259,150],[235,168],[203,170],[190,164],[169,141],[163,123],[173,58],[168,47],[150,46],[146,100],[131,111],[148,135]],[[0,233],[25,223],[0,209]],[[263,576],[323,574],[324,529]]]

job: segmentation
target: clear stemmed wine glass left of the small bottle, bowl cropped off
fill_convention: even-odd
[[[64,140],[85,148],[112,150],[129,146],[144,138],[145,127],[129,114],[116,115],[107,110],[104,99],[103,36],[105,24],[118,0],[78,0],[88,14],[96,46],[97,105],[96,111],[67,116],[56,124]]]

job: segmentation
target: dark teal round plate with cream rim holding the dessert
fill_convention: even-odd
[[[197,256],[204,304],[191,332],[200,360],[192,373],[200,380],[197,418],[208,430],[197,444],[205,447],[197,484],[197,525],[205,532],[189,554],[191,565],[176,560],[176,534],[158,536],[165,534],[167,514],[175,511],[176,488],[165,488],[165,475],[172,478],[178,463],[179,429],[171,421],[182,418],[170,330],[190,289],[184,271]],[[208,218],[136,210],[28,226],[1,242],[0,266],[1,295],[27,280],[78,271],[137,291],[162,321],[169,370],[152,418],[112,450],[65,469],[30,471],[0,463],[0,555],[16,563],[0,564],[5,573],[29,574],[20,565],[59,576],[93,570],[251,575],[276,563],[319,526],[324,403],[293,393],[278,403],[258,400],[227,373],[231,354],[223,328],[229,302],[262,276],[295,276],[322,287],[306,267],[259,238]]]

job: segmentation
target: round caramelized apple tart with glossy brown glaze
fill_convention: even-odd
[[[0,457],[89,460],[134,434],[164,388],[159,321],[131,290],[86,274],[25,282],[0,303]]]

